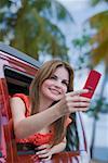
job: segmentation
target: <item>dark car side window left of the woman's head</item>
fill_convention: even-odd
[[[25,95],[29,93],[29,85],[32,80],[32,76],[12,70],[10,67],[4,67],[4,75],[10,96],[18,92]]]

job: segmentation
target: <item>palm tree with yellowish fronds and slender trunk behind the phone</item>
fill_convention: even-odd
[[[91,43],[94,46],[92,49],[92,59],[93,65],[97,65],[100,61],[105,63],[105,75],[102,84],[100,97],[99,100],[104,96],[104,90],[106,88],[107,79],[108,79],[108,11],[100,12],[90,18],[90,24],[92,28],[96,29],[96,34],[92,37]],[[100,105],[97,103],[97,115],[100,112]],[[93,122],[93,136],[92,136],[92,145],[91,145],[91,154],[93,158],[93,149],[95,142],[95,135],[96,135],[96,122],[97,115],[94,116]]]

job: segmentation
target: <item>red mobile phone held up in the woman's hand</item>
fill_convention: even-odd
[[[85,85],[83,87],[83,89],[89,89],[89,92],[86,93],[81,93],[82,97],[86,97],[86,98],[92,98],[94,95],[94,91],[98,85],[98,82],[100,79],[102,74],[98,73],[97,71],[92,70],[89,74],[89,77],[85,82]]]

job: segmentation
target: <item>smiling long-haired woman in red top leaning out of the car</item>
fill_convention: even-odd
[[[90,99],[73,91],[73,71],[59,60],[48,61],[38,71],[29,97],[17,93],[11,99],[14,131],[18,143],[37,147],[39,159],[50,160],[66,147],[69,114],[86,111]]]

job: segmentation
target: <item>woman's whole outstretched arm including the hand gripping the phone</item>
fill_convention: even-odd
[[[42,128],[51,125],[59,117],[76,111],[86,111],[90,105],[90,99],[80,97],[79,93],[85,90],[71,91],[66,93],[63,99],[49,109],[25,117],[25,103],[21,98],[11,99],[12,117],[14,123],[14,131],[17,138],[26,138]]]

